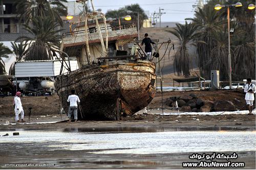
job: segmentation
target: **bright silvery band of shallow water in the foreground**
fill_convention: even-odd
[[[186,152],[255,151],[255,131],[164,131],[162,128],[65,129],[19,131],[0,144],[26,144],[47,150],[90,150],[94,154],[165,154]],[[31,146],[30,146],[31,143]]]

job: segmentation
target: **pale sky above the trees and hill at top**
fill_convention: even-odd
[[[161,16],[162,22],[184,22],[185,18],[194,17],[192,5],[196,5],[197,2],[196,0],[94,0],[94,6],[106,13],[108,10],[116,10],[125,5],[139,4],[145,12],[150,12],[150,15],[154,11],[159,12],[160,7],[164,9],[161,12],[166,13]]]

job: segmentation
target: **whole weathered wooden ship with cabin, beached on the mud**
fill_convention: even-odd
[[[66,113],[68,95],[75,89],[80,98],[78,119],[120,120],[154,98],[155,64],[140,59],[138,45],[132,55],[123,50],[137,37],[134,24],[111,26],[103,13],[95,11],[92,0],[91,5],[93,12],[84,12],[82,21],[73,23],[70,33],[62,34],[62,57],[76,57],[79,68],[57,76],[55,87]]]

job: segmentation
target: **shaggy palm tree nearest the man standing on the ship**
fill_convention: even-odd
[[[180,76],[183,72],[185,77],[190,75],[191,60],[190,55],[188,54],[189,45],[196,45],[196,37],[198,33],[196,32],[198,26],[185,22],[185,25],[180,23],[176,24],[177,28],[174,30],[167,30],[167,32],[172,33],[180,40],[180,46],[177,53],[174,56],[174,66]]]

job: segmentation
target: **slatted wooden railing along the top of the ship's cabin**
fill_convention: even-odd
[[[123,24],[123,25],[114,25],[114,26],[108,26],[106,27],[107,30],[111,31],[116,31],[116,30],[124,30],[124,29],[130,29],[130,28],[135,28],[136,25],[134,23],[129,23],[129,24]],[[100,31],[104,31],[105,27],[100,27]],[[74,36],[77,34],[82,34],[84,33],[85,30],[78,30],[78,31],[72,31],[72,32],[66,32],[62,33],[62,37],[67,37],[67,36]],[[92,27],[87,29],[88,34],[96,33],[98,32],[98,28]]]

